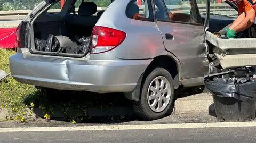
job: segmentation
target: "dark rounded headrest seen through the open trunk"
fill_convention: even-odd
[[[82,2],[78,9],[78,15],[91,16],[97,12],[97,5],[93,2]]]

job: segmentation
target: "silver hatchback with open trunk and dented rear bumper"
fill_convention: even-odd
[[[170,113],[175,89],[204,85],[204,75],[212,72],[209,13],[202,16],[196,0],[109,0],[102,10],[93,2],[67,0],[56,11],[58,3],[44,0],[17,28],[17,54],[10,57],[15,80],[123,92],[135,113],[154,120]]]

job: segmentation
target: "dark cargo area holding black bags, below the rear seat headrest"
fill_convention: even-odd
[[[89,51],[94,19],[86,23],[76,19],[76,15],[67,16],[60,21],[36,21],[33,23],[36,51],[57,52],[84,55]]]

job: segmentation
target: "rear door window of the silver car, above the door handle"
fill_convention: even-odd
[[[178,22],[186,22],[186,23],[201,22],[197,19],[198,8],[195,1],[193,0],[156,0],[156,1],[159,1],[158,2],[159,5],[161,5],[164,2],[168,21],[178,21]],[[165,14],[163,14],[163,12],[161,12],[161,14],[157,14],[157,11],[156,11],[156,15],[157,17],[159,17],[159,20],[166,20]]]

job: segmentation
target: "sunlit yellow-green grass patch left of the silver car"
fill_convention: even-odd
[[[0,69],[10,74],[9,57],[14,55],[15,51],[0,49]],[[0,82],[0,107],[11,110],[9,120],[19,120],[24,122],[32,114],[28,113],[27,108],[33,107],[25,105],[24,99],[37,92],[37,89],[30,85],[23,85],[15,81],[11,76]]]

